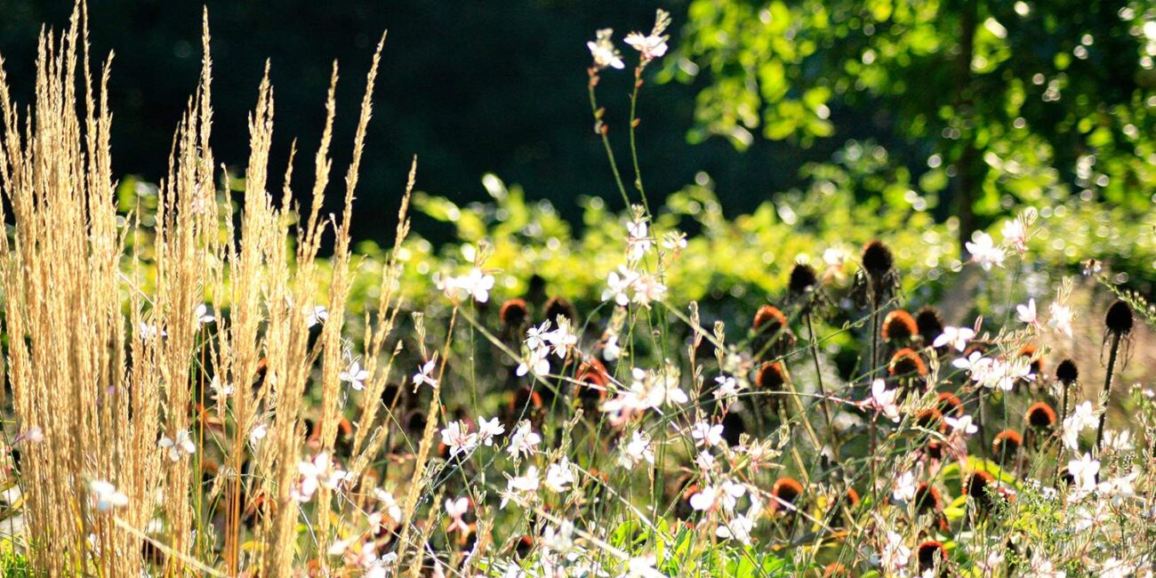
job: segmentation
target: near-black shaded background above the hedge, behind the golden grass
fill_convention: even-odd
[[[333,60],[339,60],[341,73],[334,139],[334,181],[340,185],[373,45],[388,30],[354,213],[358,239],[392,239],[413,155],[418,156],[418,188],[458,202],[486,199],[480,177],[490,171],[524,185],[532,199],[554,201],[571,221],[578,216],[578,195],[600,195],[612,206],[621,205],[592,131],[585,42],[595,29],[613,27],[621,45],[625,32],[650,29],[658,5],[606,0],[207,5],[217,161],[237,172],[244,169],[245,119],[269,58],[276,98],[271,187],[280,186],[290,139],[296,136],[302,194],[307,192],[303,179],[312,173]],[[662,6],[674,14],[672,42],[677,42],[686,2]],[[198,1],[89,1],[95,54],[116,52],[110,92],[117,175],[149,180],[164,176],[173,129],[197,84],[201,7]],[[0,54],[22,103],[30,102],[40,24],[64,29],[71,10],[66,0],[0,0]],[[630,76],[629,71],[606,74],[600,87],[609,121],[617,128],[612,138],[622,154]],[[686,133],[694,121],[697,89],[652,83],[644,90],[642,162],[652,195],[675,191],[703,170],[718,183],[729,213],[746,212],[792,185],[805,160],[825,160],[843,141],[829,139],[805,150],[761,140],[744,154],[720,139],[689,144]],[[340,188],[334,186],[331,197],[339,199]],[[418,232],[440,236],[431,223],[418,223]]]

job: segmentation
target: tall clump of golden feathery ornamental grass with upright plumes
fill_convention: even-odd
[[[42,35],[36,101],[27,118],[0,72],[0,194],[6,201],[0,218],[13,223],[12,240],[0,236],[3,331],[29,336],[9,344],[8,377],[16,415],[44,435],[44,443],[25,450],[23,511],[29,540],[53,544],[30,549],[29,563],[45,576],[142,576],[147,561],[138,528],[158,514],[163,526],[147,543],[163,544],[162,570],[216,573],[201,562],[216,546],[206,533],[191,531],[201,516],[210,516],[222,521],[225,572],[289,576],[298,516],[292,494],[305,445],[302,398],[314,372],[321,384],[314,443],[321,452],[340,447],[349,460],[343,467],[356,480],[366,455],[381,445],[366,433],[387,375],[375,360],[397,311],[399,271],[392,258],[366,328],[366,373],[357,371],[368,393],[358,414],[363,428],[353,431],[336,410],[339,375],[348,368],[341,329],[351,280],[350,213],[381,44],[366,77],[340,214],[320,217],[332,168],[336,68],[311,203],[298,215],[291,170],[280,194],[267,190],[274,99],[266,67],[250,117],[245,202],[234,220],[228,213],[232,192],[218,193],[210,148],[206,12],[200,81],[157,190],[157,218],[144,224],[139,214],[127,220],[117,214],[110,65],[105,61],[94,83],[87,38],[81,6],[62,35]],[[408,232],[408,194],[398,244]],[[12,207],[10,217],[3,206]],[[326,274],[317,254],[329,224],[334,249]],[[124,272],[121,264],[127,264]],[[146,275],[147,268],[155,275]],[[321,286],[328,288],[325,305],[317,304]],[[209,295],[212,306],[205,304]],[[319,331],[311,331],[317,325]],[[210,381],[217,384],[215,407],[205,399]],[[253,386],[221,385],[229,383]],[[207,423],[215,425],[193,431]],[[158,447],[157,439],[169,439],[175,451]],[[201,466],[217,458],[215,469]],[[206,501],[191,483],[202,475],[212,479],[220,501]],[[329,492],[321,484],[319,510],[328,511]],[[329,516],[318,519],[324,550]],[[264,546],[242,555],[243,540]]]

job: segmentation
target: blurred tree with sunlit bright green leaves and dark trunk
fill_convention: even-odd
[[[897,138],[964,240],[1017,202],[1150,210],[1154,58],[1151,0],[694,0],[665,77],[707,79],[694,141]]]

